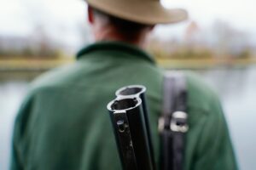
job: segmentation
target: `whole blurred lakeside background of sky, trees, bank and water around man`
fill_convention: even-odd
[[[214,88],[241,170],[256,167],[256,22],[253,0],[163,0],[188,21],[157,26],[147,50],[166,70],[195,71]],[[92,42],[82,0],[0,0],[0,169],[9,166],[11,132],[29,82],[72,63]]]

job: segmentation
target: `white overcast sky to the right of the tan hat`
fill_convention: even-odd
[[[164,0],[166,7],[189,10],[192,20],[210,24],[212,20],[227,20],[242,29],[256,29],[255,0]]]

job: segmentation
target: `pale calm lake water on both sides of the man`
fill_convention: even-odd
[[[256,67],[241,69],[219,68],[197,71],[218,91],[223,101],[225,116],[241,170],[256,167]],[[16,78],[15,78],[16,79]],[[10,79],[0,80],[0,169],[7,170],[9,147],[15,113],[26,94],[28,82]],[[30,80],[28,78],[27,80]]]

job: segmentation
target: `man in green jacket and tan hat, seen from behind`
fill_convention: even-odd
[[[185,20],[182,9],[157,0],[88,0],[88,20],[96,43],[78,60],[32,83],[15,121],[11,169],[121,169],[106,105],[116,89],[142,84],[155,161],[160,164],[157,122],[163,71],[146,54],[145,39],[155,24]],[[187,75],[189,133],[184,169],[236,170],[230,136],[218,98],[195,76]]]

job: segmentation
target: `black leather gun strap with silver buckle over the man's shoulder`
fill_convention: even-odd
[[[168,72],[164,78],[163,108],[159,121],[161,169],[182,170],[184,134],[187,124],[187,89],[181,73]]]

